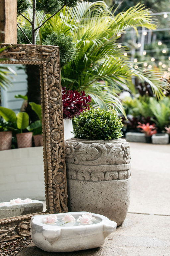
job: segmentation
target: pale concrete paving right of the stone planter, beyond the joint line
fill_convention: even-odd
[[[130,142],[129,212],[170,215],[170,144]]]

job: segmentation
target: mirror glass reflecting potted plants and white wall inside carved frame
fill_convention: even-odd
[[[0,107],[0,132],[12,131],[12,144],[11,135],[0,136],[0,219],[46,211],[41,106],[28,105],[25,97],[27,74],[35,67],[39,72],[39,65],[8,67],[16,74],[10,74],[13,86],[2,90]],[[40,84],[39,75],[31,80],[32,87]],[[5,144],[9,140],[7,147],[3,140]]]

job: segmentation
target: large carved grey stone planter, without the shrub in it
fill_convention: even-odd
[[[121,225],[130,203],[130,147],[125,139],[65,141],[68,210],[102,214]]]

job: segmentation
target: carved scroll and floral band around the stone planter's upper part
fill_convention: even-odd
[[[65,143],[67,178],[81,181],[123,180],[131,176],[128,142],[113,144]],[[81,170],[78,166],[82,166]],[[84,170],[83,170],[84,166]],[[94,170],[93,166],[98,166]]]

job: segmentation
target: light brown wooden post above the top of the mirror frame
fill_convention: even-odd
[[[0,0],[0,43],[17,44],[17,0]]]

